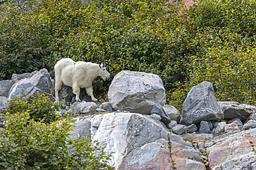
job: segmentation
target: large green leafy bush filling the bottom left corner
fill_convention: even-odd
[[[35,122],[28,111],[7,113],[5,127],[0,129],[0,168],[111,169],[104,146],[89,138],[68,138],[72,123],[68,116],[48,125]],[[68,145],[75,148],[72,153]]]

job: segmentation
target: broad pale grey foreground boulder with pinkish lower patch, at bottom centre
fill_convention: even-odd
[[[70,137],[87,134],[91,134],[92,140],[106,144],[107,154],[114,152],[109,165],[115,169],[205,169],[199,151],[191,142],[171,134],[162,123],[149,116],[113,112],[82,118],[77,120]]]

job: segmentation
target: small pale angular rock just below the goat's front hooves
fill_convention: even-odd
[[[73,103],[72,111],[79,114],[89,114],[95,112],[95,109],[98,108],[98,105],[94,102],[75,102]]]

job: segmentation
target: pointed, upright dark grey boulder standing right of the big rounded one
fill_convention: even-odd
[[[217,104],[212,83],[204,81],[192,87],[183,103],[181,124],[191,125],[201,120],[212,121],[224,118],[223,111]]]

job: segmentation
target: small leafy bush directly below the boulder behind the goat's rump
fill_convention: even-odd
[[[24,94],[19,96],[18,99],[9,100],[6,111],[10,114],[28,111],[30,118],[33,118],[35,121],[44,119],[44,123],[51,123],[55,120],[55,111],[59,107],[59,105],[53,104],[49,96],[37,93],[31,96]]]

